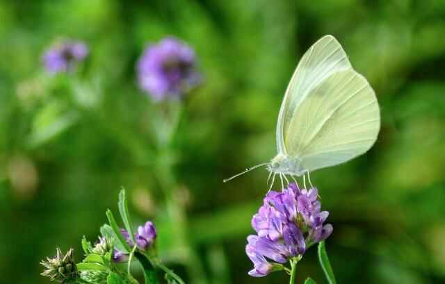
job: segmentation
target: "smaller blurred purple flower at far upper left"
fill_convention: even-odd
[[[49,73],[71,71],[76,62],[88,55],[88,47],[79,41],[66,41],[47,49],[42,56],[45,69]]]

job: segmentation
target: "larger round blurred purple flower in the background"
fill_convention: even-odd
[[[174,37],[167,37],[145,49],[136,67],[138,83],[156,101],[179,98],[200,83],[195,67],[193,49]]]

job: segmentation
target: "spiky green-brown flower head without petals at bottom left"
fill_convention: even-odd
[[[65,256],[63,256],[60,249],[56,250],[54,258],[47,258],[40,262],[46,269],[42,272],[42,276],[47,276],[51,281],[58,283],[74,283],[79,278],[76,263],[73,258],[74,249],[70,249]]]

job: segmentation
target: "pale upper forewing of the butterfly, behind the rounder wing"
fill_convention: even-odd
[[[293,73],[278,115],[278,153],[289,154],[286,140],[289,140],[289,134],[295,135],[289,132],[291,119],[309,92],[333,73],[348,68],[348,57],[332,35],[322,37],[306,51]]]

